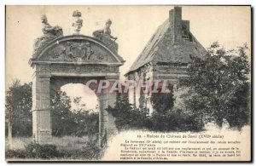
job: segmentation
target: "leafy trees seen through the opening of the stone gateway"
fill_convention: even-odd
[[[51,100],[53,135],[95,135],[99,129],[99,114],[80,103],[81,97],[72,100],[65,92],[58,91]]]

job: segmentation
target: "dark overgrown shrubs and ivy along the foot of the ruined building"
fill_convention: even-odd
[[[198,119],[186,114],[183,110],[173,109],[172,93],[153,94],[150,102],[154,112],[149,115],[147,108],[135,108],[129,103],[126,95],[119,94],[116,105],[108,107],[108,112],[115,117],[119,130],[148,129],[152,131],[187,131],[200,130]]]

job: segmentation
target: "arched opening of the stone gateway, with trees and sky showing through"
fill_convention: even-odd
[[[52,142],[61,149],[97,145],[99,101],[83,83],[67,83],[51,96]]]

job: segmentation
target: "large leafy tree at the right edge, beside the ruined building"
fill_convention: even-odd
[[[218,43],[212,43],[204,57],[191,56],[191,60],[189,77],[181,80],[189,88],[184,99],[186,106],[219,127],[224,119],[233,127],[246,124],[250,84],[247,45],[226,51]]]

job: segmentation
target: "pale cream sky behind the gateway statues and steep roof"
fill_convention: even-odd
[[[120,78],[127,72],[154,34],[168,19],[172,6],[7,6],[6,10],[6,87],[15,79],[21,83],[32,81],[32,46],[43,35],[40,17],[46,14],[51,26],[61,26],[64,36],[73,34],[73,11],[82,13],[84,26],[80,33],[92,36],[111,19],[112,35],[118,37],[119,55],[125,65],[120,67]],[[208,48],[212,42],[235,49],[243,43],[251,44],[251,9],[239,6],[183,6],[183,20],[190,21],[190,31]],[[65,88],[66,87],[66,88]],[[71,96],[83,89],[79,86],[62,88]],[[79,94],[85,96],[85,94]],[[82,97],[83,97],[82,96]],[[95,99],[96,100],[96,99]],[[95,103],[93,102],[88,102]],[[89,106],[93,107],[93,106]]]

